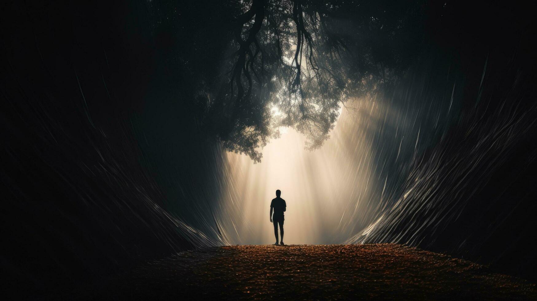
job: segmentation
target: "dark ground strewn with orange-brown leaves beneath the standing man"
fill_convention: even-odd
[[[87,296],[85,293],[79,296]],[[536,299],[535,284],[393,244],[226,246],[151,261],[92,290],[113,299]]]

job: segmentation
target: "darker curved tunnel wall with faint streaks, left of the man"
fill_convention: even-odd
[[[145,4],[6,5],[0,157],[9,283],[70,286],[136,260],[221,244],[166,210],[159,177],[136,137],[144,135],[135,130],[144,98],[163,88],[154,84],[162,81],[154,78],[163,62]],[[183,104],[179,119],[191,116]],[[174,167],[210,191],[211,170],[204,168],[211,162],[204,161],[217,160],[216,146],[194,139],[190,124],[171,125],[178,127],[175,139],[195,144],[174,150],[190,160]]]

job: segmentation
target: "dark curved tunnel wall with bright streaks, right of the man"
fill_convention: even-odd
[[[434,63],[426,72],[433,87],[446,83],[438,74],[448,75],[460,113],[438,144],[410,162],[381,223],[350,241],[409,243],[534,280],[532,9],[503,2],[437,9],[441,17],[427,26]],[[419,90],[406,81],[396,93]]]

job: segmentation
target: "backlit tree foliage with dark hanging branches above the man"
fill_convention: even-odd
[[[198,73],[190,87],[200,126],[254,161],[281,126],[306,135],[308,149],[322,146],[347,99],[397,81],[423,32],[420,2],[252,0],[189,4],[183,11],[169,5],[167,24],[195,32],[182,39],[178,58]],[[203,47],[192,51],[191,42]]]

